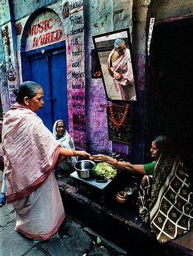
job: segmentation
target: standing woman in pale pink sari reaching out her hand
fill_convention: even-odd
[[[14,93],[17,102],[3,120],[6,203],[13,203],[18,232],[34,241],[47,240],[65,217],[54,166],[60,156],[90,154],[63,148],[34,113],[44,103],[39,84],[24,82]]]

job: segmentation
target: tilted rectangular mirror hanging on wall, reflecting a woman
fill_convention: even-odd
[[[137,100],[129,28],[92,36],[108,100]]]

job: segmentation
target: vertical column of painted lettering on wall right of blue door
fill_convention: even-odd
[[[68,71],[71,74],[71,109],[75,148],[85,150],[86,121],[85,121],[85,63],[84,63],[84,33],[83,33],[83,0],[71,1],[69,4],[69,58],[71,64]],[[70,119],[70,118],[69,118]],[[76,132],[74,132],[76,131]]]

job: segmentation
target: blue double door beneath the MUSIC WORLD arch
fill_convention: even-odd
[[[25,81],[32,80],[43,87],[45,102],[37,114],[52,131],[55,120],[62,119],[68,129],[68,97],[65,48],[46,49],[27,54],[29,68]]]

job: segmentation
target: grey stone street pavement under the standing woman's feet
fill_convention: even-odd
[[[0,207],[1,256],[132,256],[71,216],[59,228],[59,237],[38,244],[16,232],[15,221],[12,204]]]

